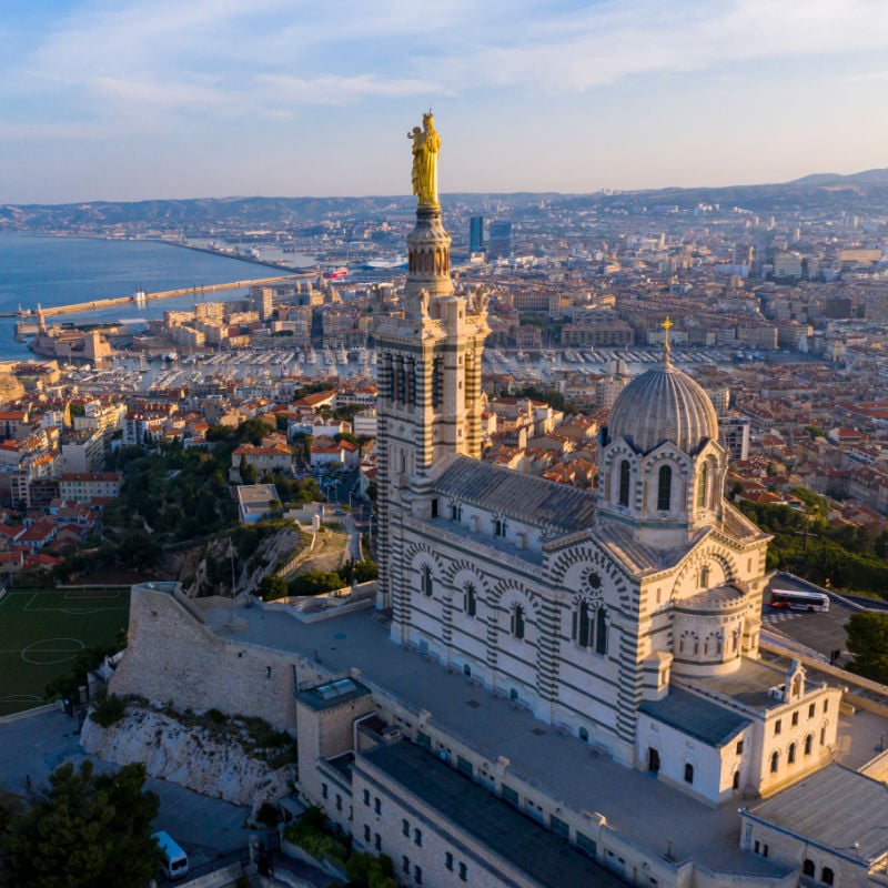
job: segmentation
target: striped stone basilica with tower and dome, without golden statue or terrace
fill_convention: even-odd
[[[450,243],[421,199],[403,309],[375,321],[392,639],[709,803],[820,768],[840,690],[759,662],[768,536],[723,495],[716,412],[668,321],[595,492],[482,462],[486,299],[455,290]]]

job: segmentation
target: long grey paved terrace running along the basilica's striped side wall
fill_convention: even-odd
[[[773,860],[739,849],[736,806],[714,810],[647,773],[618,765],[576,737],[563,736],[463,675],[395,645],[387,627],[372,614],[306,625],[284,612],[219,607],[206,612],[206,625],[241,644],[313,658],[331,674],[357,667],[360,680],[371,689],[379,688],[417,716],[428,710],[428,725],[440,726],[494,761],[498,756],[508,758],[508,771],[538,786],[541,798],[547,796],[577,813],[599,811],[613,829],[655,854],[665,855],[670,844],[679,862],[694,858],[726,872],[785,871]]]

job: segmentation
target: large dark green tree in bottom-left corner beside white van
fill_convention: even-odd
[[[62,765],[49,788],[13,816],[2,881],[17,888],[142,888],[161,854],[151,836],[160,800],[145,793],[141,763],[115,774]]]

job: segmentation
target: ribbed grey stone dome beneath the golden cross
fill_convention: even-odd
[[[607,424],[610,441],[625,437],[649,453],[670,441],[694,455],[707,441],[718,441],[718,417],[709,395],[668,360],[636,376],[617,396]]]

